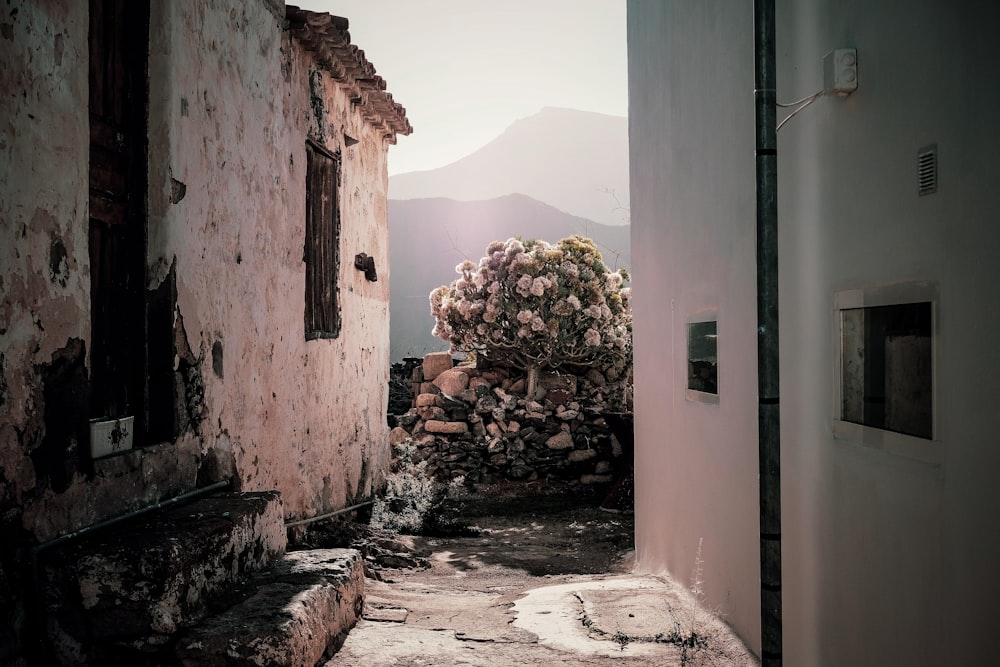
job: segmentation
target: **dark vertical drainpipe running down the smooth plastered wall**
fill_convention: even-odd
[[[754,0],[757,171],[757,416],[761,665],[781,665],[781,438],[778,394],[778,145],[774,0]]]

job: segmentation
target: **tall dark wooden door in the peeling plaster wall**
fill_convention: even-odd
[[[145,405],[149,4],[90,0],[92,417]]]

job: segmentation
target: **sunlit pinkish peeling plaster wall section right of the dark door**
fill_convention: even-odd
[[[369,497],[388,465],[388,145],[282,18],[233,6],[153,6],[150,270],[176,261],[202,452],[231,456],[242,489],[278,489],[288,516],[309,516]],[[309,342],[307,137],[343,155],[343,327]],[[354,269],[360,252],[378,282]]]

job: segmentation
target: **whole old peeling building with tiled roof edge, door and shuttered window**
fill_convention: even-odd
[[[286,520],[372,496],[411,127],[281,0],[15,0],[0,61],[7,664],[34,546],[219,481]]]

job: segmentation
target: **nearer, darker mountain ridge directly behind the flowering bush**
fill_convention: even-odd
[[[389,200],[391,358],[446,350],[431,335],[428,297],[458,277],[462,260],[479,262],[492,241],[511,236],[554,243],[574,234],[594,240],[612,269],[628,267],[629,227],[602,225],[521,194],[487,201]]]

